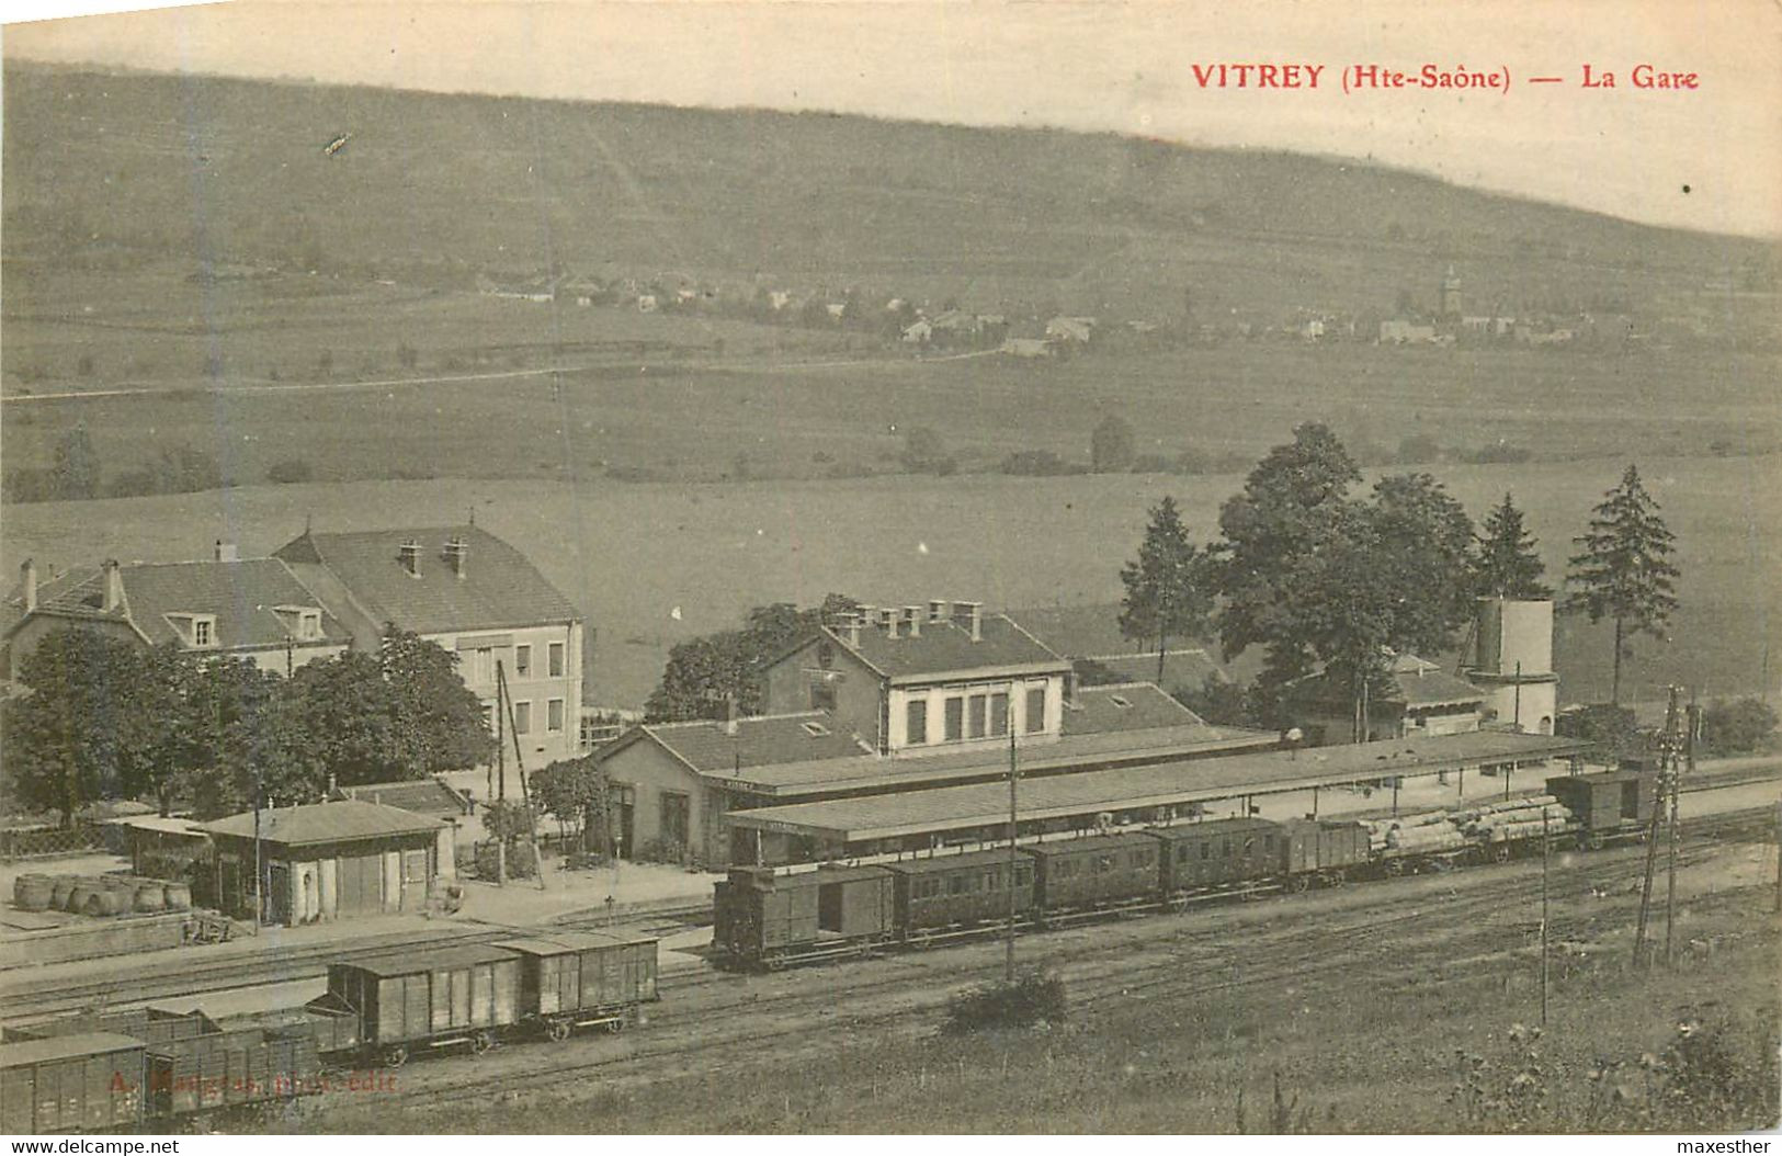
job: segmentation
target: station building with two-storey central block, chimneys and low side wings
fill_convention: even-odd
[[[862,607],[764,670],[768,712],[633,727],[599,752],[633,859],[788,862],[820,837],[740,810],[1026,777],[1178,768],[1279,745],[1214,727],[1148,682],[1078,688],[1069,659],[975,602]]]

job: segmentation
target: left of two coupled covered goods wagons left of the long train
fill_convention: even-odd
[[[437,948],[328,965],[314,1006],[358,1017],[364,1053],[401,1067],[415,1047],[465,1044],[474,1054],[520,1021],[520,957],[488,946]]]

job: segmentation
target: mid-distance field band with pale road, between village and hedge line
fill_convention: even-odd
[[[1456,458],[1500,445],[1538,458],[1782,445],[1773,358],[1748,353],[1240,342],[1062,363],[996,354],[918,362],[848,351],[846,340],[864,338],[839,333],[474,294],[397,297],[371,287],[347,297],[351,310],[331,303],[214,338],[219,347],[264,338],[266,358],[296,363],[280,381],[255,369],[248,379],[223,378],[226,392],[191,376],[150,381],[169,388],[127,397],[11,395],[5,467],[50,465],[75,424],[93,436],[107,476],[184,445],[216,454],[225,477],[241,483],[264,481],[290,460],[321,481],[861,476],[902,468],[903,431],[914,426],[939,431],[964,470],[996,468],[1021,449],[1087,463],[1089,431],[1108,413],[1133,424],[1139,452],[1167,460],[1190,447],[1256,458],[1312,419],[1376,461],[1390,461],[1411,436]],[[9,346],[18,328],[9,322]],[[192,346],[180,356],[196,362],[212,338],[180,340]],[[415,349],[413,369],[397,367],[401,344]],[[59,356],[73,363],[75,347]],[[339,372],[314,372],[317,347],[342,351]],[[542,372],[552,365],[579,369]],[[36,388],[143,381],[102,374]]]

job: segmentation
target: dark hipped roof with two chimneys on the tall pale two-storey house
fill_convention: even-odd
[[[453,538],[469,549],[462,579],[444,554]],[[419,577],[403,568],[405,541],[421,543]],[[476,525],[308,531],[274,556],[299,568],[324,566],[371,618],[417,634],[581,620],[524,554]]]

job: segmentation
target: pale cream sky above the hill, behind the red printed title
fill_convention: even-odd
[[[118,0],[9,7],[30,20],[4,28],[5,57],[1110,130],[1356,157],[1636,221],[1782,237],[1773,0],[233,0],[64,16],[73,5]],[[1237,64],[1276,66],[1269,78],[1299,87]],[[1508,73],[1508,89],[1345,93],[1356,66],[1377,66],[1372,78]],[[1695,87],[1638,85],[1659,73],[1693,73]]]

